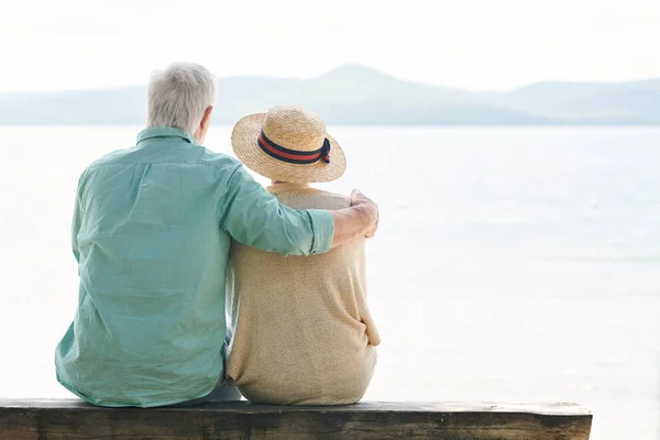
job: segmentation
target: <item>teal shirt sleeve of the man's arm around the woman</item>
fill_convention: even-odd
[[[334,220],[329,211],[282,205],[242,166],[227,180],[223,201],[220,228],[240,243],[283,256],[322,254],[332,245]]]

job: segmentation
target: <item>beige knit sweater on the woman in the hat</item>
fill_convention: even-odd
[[[268,190],[292,208],[350,206],[348,197],[307,185],[278,184]],[[255,403],[360,400],[381,342],[366,306],[364,260],[364,239],[307,257],[232,243],[228,381]]]

